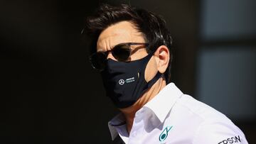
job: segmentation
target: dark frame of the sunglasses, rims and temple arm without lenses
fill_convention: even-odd
[[[132,53],[134,53],[134,50],[139,50],[139,48],[135,48],[134,50],[132,50],[131,49],[131,45],[144,45],[145,47],[147,47],[148,45],[149,45],[149,43],[119,43],[119,44],[117,44],[117,45],[114,45],[114,47],[111,49],[111,50],[107,50],[107,51],[105,51],[105,52],[94,52],[94,53],[92,53],[92,55],[90,55],[90,57],[89,57],[89,60],[90,60],[90,63],[91,63],[91,65],[92,65],[92,68],[94,68],[94,69],[96,69],[96,70],[104,70],[104,68],[105,68],[105,66],[104,67],[102,67],[101,69],[100,68],[96,68],[95,67],[95,65],[93,65],[93,63],[94,62],[92,62],[92,57],[94,56],[94,55],[97,55],[97,54],[99,54],[99,53],[102,53],[103,55],[105,55],[105,61],[102,61],[102,64],[104,65],[104,63],[105,62],[107,62],[107,55],[108,55],[108,53],[109,52],[112,52],[115,48],[118,48],[120,45],[129,45],[129,57],[131,57],[131,55],[132,55]],[[143,47],[143,48],[145,48],[145,47]],[[135,51],[135,52],[136,52]],[[119,62],[125,62],[126,60],[118,60],[118,57],[117,57],[117,55],[115,55],[113,52],[112,52],[112,55],[113,55],[113,57],[117,60],[117,61],[119,61]],[[128,58],[129,58],[128,57]]]

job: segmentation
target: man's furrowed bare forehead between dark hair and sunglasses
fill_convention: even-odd
[[[97,40],[97,50],[110,50],[119,43],[143,43],[144,35],[129,21],[121,21],[106,28]]]

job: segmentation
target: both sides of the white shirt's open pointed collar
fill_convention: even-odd
[[[181,97],[182,94],[181,90],[179,90],[174,83],[167,84],[166,87],[161,89],[159,94],[156,94],[156,96],[146,103],[142,109],[145,107],[151,109],[157,118],[159,118],[159,121],[163,123],[176,100]],[[117,116],[112,118],[108,123],[108,126],[110,128],[112,140],[117,137],[118,133],[122,138],[129,137],[126,129],[125,118],[122,113],[119,113]]]

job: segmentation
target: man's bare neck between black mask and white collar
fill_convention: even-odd
[[[132,124],[134,121],[135,113],[142,108],[147,102],[149,102],[151,99],[158,94],[161,89],[163,89],[166,86],[166,81],[163,77],[161,77],[156,83],[147,91],[145,92],[141,98],[139,98],[135,104],[132,106],[129,106],[128,108],[120,109],[122,113],[124,114],[124,117],[126,119],[127,123],[127,131],[130,133],[132,129]]]

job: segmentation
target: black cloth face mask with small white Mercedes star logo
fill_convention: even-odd
[[[158,72],[153,79],[146,82],[144,78],[146,65],[153,52],[140,60],[118,62],[107,60],[107,67],[101,72],[107,96],[118,108],[132,106],[158,79]]]

